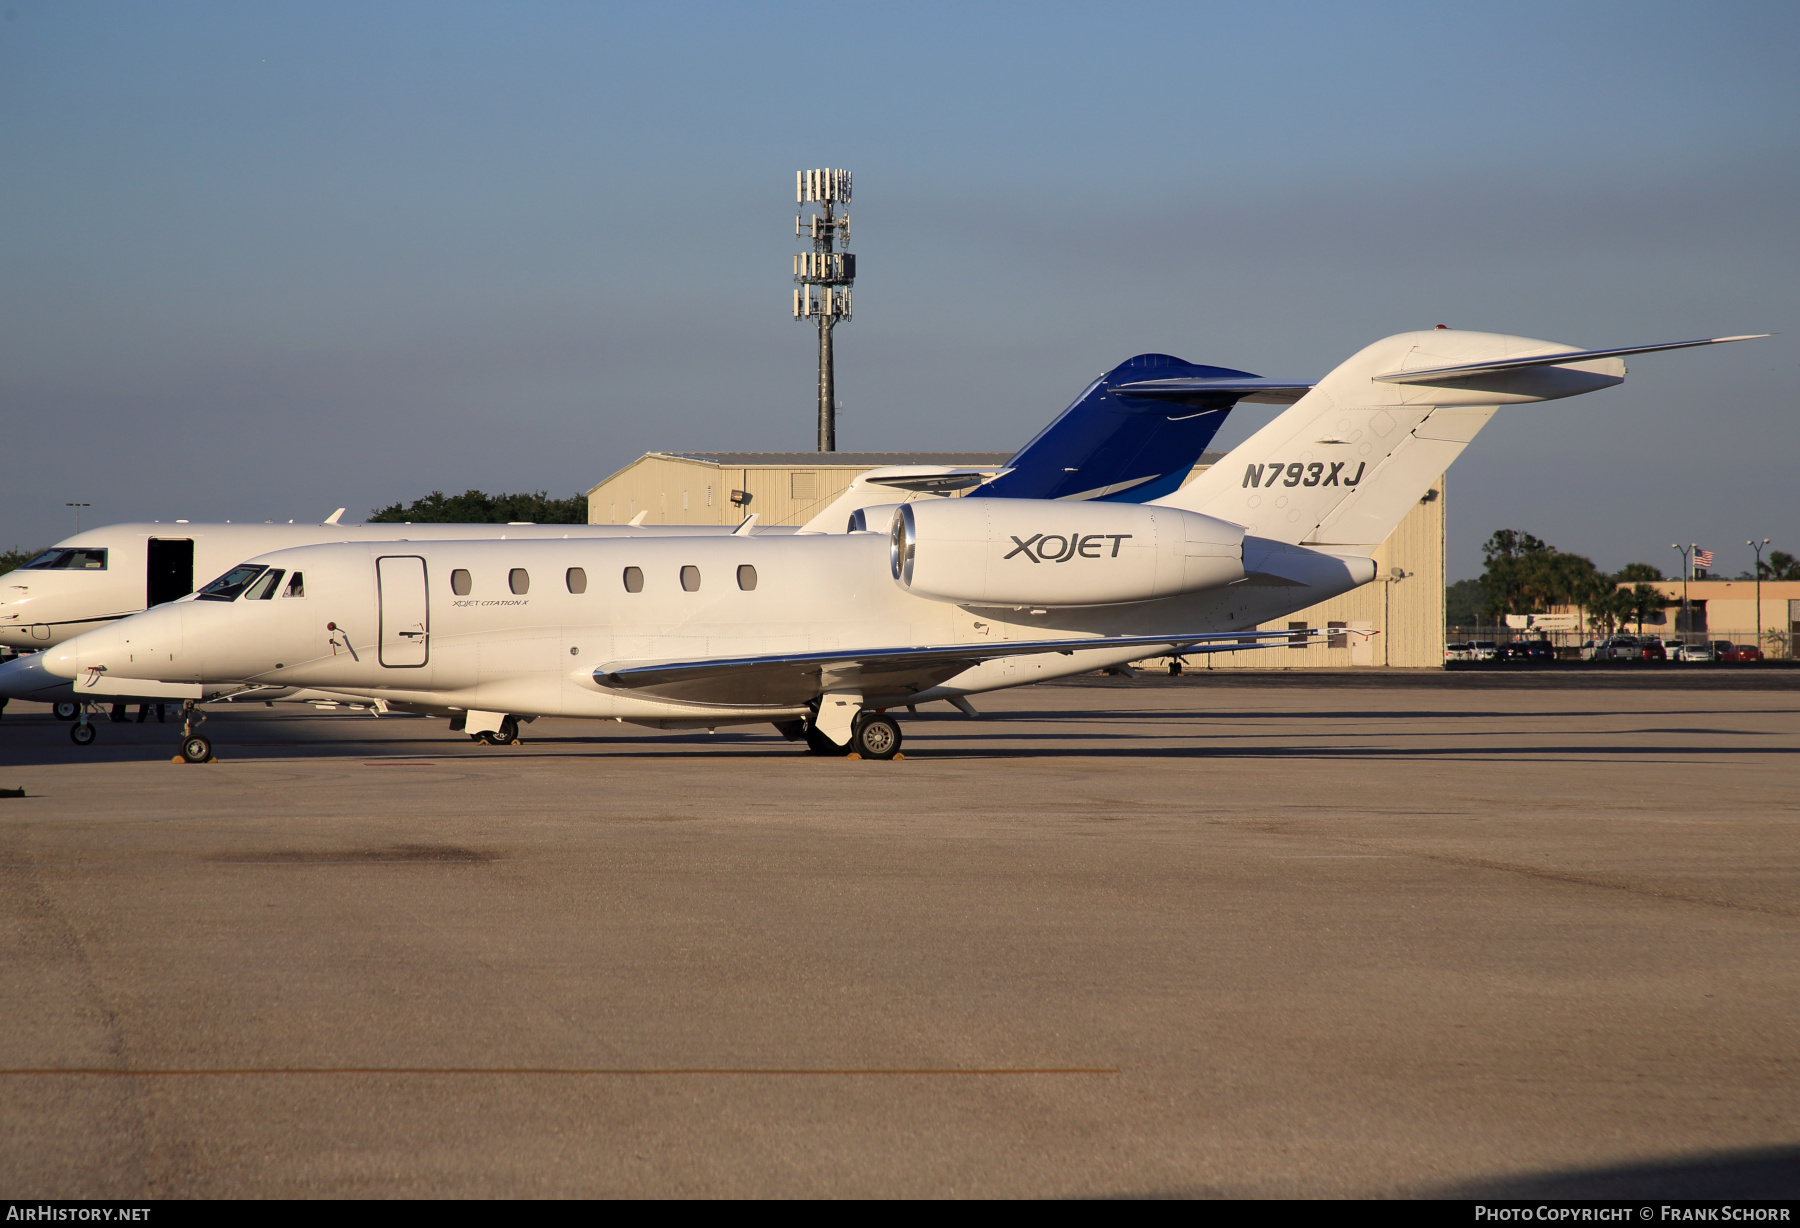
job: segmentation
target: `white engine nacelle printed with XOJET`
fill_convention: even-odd
[[[1244,578],[1244,529],[1132,502],[934,499],[893,515],[907,592],[958,605],[1125,605]]]

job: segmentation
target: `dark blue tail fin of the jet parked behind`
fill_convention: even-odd
[[[1177,490],[1231,407],[1267,384],[1247,371],[1138,355],[1089,384],[968,497],[1148,502]]]

